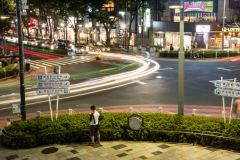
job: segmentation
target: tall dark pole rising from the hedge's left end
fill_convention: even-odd
[[[23,67],[23,34],[22,34],[22,17],[21,17],[21,0],[16,0],[17,8],[17,30],[18,30],[18,52],[20,63],[20,96],[21,96],[21,119],[26,120],[25,108],[25,85],[24,85],[24,67]]]

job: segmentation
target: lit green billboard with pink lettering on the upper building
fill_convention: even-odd
[[[213,1],[184,2],[184,12],[213,12]]]

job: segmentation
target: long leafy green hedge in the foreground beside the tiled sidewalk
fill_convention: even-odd
[[[219,132],[229,139],[208,136],[195,136],[195,141],[204,146],[233,149],[240,151],[240,121],[233,119],[231,124],[223,123],[222,118],[165,115],[160,113],[141,113],[144,126],[133,131],[128,127],[130,113],[105,113],[102,121],[101,140],[165,141],[190,143],[190,134],[155,133],[153,130],[202,130]],[[89,114],[60,115],[58,120],[50,117],[33,118],[12,122],[4,128],[2,144],[11,148],[30,148],[40,145],[90,141],[88,134]],[[114,129],[114,130],[113,130]],[[112,130],[112,131],[111,131]],[[234,137],[233,139],[231,139]]]

